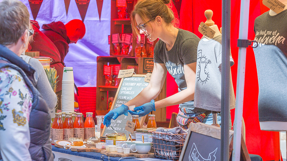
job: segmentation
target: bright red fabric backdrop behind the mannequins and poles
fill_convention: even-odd
[[[180,11],[179,28],[195,33],[198,37],[202,35],[198,31],[200,22],[205,22],[204,11],[211,9],[213,11],[212,20],[220,28],[222,3],[220,0],[210,1],[191,1],[182,0]],[[268,8],[262,5],[259,0],[250,1],[249,13],[249,30],[248,39],[254,39],[253,25],[256,17],[268,11]],[[236,77],[237,77],[237,62],[238,62],[238,47],[237,39],[239,33],[239,18],[240,18],[240,1],[231,1],[231,53],[235,64],[231,67],[232,81],[234,92],[236,92]],[[177,93],[177,84],[174,79],[167,75],[168,91],[167,96]],[[173,88],[170,88],[173,87]],[[177,106],[167,107],[167,118],[171,117],[172,112],[178,112]],[[234,110],[231,110],[232,123],[234,120]],[[279,160],[279,132],[261,131],[258,120],[258,80],[255,57],[253,49],[247,48],[246,57],[246,73],[245,73],[245,92],[243,105],[243,118],[246,126],[246,145],[249,154],[260,155],[263,160]]]

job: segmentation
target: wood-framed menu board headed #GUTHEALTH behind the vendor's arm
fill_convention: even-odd
[[[148,86],[147,82],[144,82],[144,75],[135,74],[131,77],[122,78],[119,84],[119,88],[115,95],[111,110],[120,107],[122,104],[127,103],[129,100],[135,98],[144,88]],[[146,116],[139,117],[139,124],[141,127],[144,124]],[[131,114],[128,116],[121,115],[116,120],[111,120],[111,125],[118,133],[131,134],[125,130],[127,120],[132,121]],[[105,136],[109,133],[115,133],[110,127],[104,126],[101,136]]]

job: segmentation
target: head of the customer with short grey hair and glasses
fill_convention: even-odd
[[[27,7],[18,0],[0,2],[0,44],[17,55],[28,47],[29,17]]]

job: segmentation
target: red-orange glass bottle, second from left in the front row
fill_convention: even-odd
[[[74,137],[74,124],[71,113],[66,113],[66,118],[63,123],[63,129],[64,129],[63,140],[69,140],[69,138]]]

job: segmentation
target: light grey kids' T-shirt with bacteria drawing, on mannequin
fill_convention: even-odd
[[[221,36],[202,38],[197,47],[194,106],[221,111]],[[205,40],[204,40],[205,39]],[[230,53],[230,66],[234,64]],[[230,71],[231,75],[231,71]],[[235,96],[230,77],[230,110],[235,108]]]

